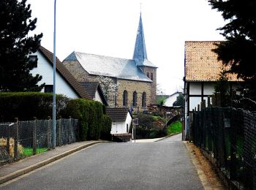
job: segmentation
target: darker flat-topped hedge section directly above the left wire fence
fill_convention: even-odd
[[[61,115],[69,98],[56,95],[56,117]],[[45,119],[52,115],[53,94],[40,92],[0,93],[0,121]]]

